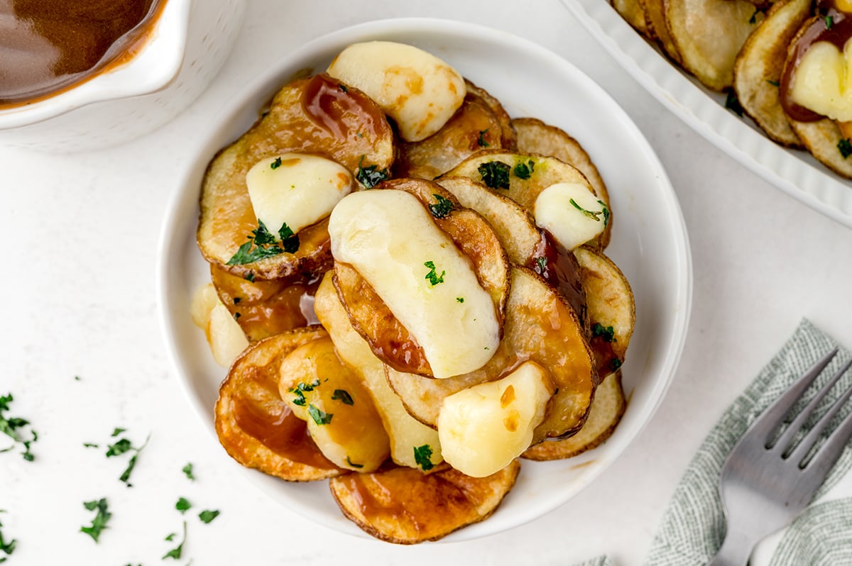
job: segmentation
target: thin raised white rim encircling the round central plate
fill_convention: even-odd
[[[273,84],[276,80],[279,82],[278,86],[280,86],[280,80],[281,77],[285,76],[284,70],[286,68],[296,66],[296,62],[299,61],[305,61],[312,58],[316,59],[316,54],[318,52],[325,51],[331,46],[335,46],[339,49],[341,45],[347,43],[354,43],[355,41],[361,41],[368,38],[381,38],[383,35],[389,35],[391,33],[400,34],[403,32],[425,32],[433,35],[464,37],[469,41],[487,41],[491,43],[508,42],[512,49],[521,49],[524,53],[533,53],[537,57],[546,60],[550,65],[561,66],[561,68],[569,71],[571,74],[577,74],[584,77],[584,81],[587,83],[586,86],[593,87],[596,94],[600,95],[604,100],[608,100],[608,103],[616,106],[621,111],[621,114],[623,114],[626,118],[627,131],[625,131],[625,135],[628,137],[634,137],[637,140],[642,140],[642,143],[644,144],[642,156],[648,158],[648,167],[653,169],[653,173],[657,177],[658,188],[665,193],[666,203],[668,204],[668,209],[666,209],[665,213],[668,215],[671,230],[677,232],[678,235],[682,235],[682,238],[676,238],[676,241],[671,244],[676,252],[674,254],[675,257],[672,258],[672,263],[678,274],[675,289],[676,296],[671,300],[671,303],[674,304],[674,309],[671,313],[671,332],[667,332],[666,340],[658,346],[660,351],[658,353],[662,359],[662,361],[659,362],[659,371],[657,372],[659,374],[659,378],[653,381],[653,386],[648,390],[647,397],[651,400],[651,402],[641,405],[642,413],[636,416],[636,420],[639,420],[638,424],[636,426],[632,426],[629,431],[624,430],[618,434],[617,438],[613,435],[613,438],[610,439],[609,443],[617,445],[608,449],[605,456],[596,458],[597,460],[601,460],[602,464],[600,466],[593,466],[594,470],[588,472],[587,475],[584,476],[584,481],[579,489],[573,489],[573,491],[570,488],[565,489],[565,493],[563,494],[567,494],[565,497],[553,497],[538,506],[532,506],[530,509],[516,513],[508,525],[504,524],[502,527],[498,527],[497,523],[491,523],[491,519],[485,523],[489,523],[489,525],[493,524],[494,528],[492,529],[475,529],[478,525],[470,525],[467,529],[461,529],[452,535],[449,535],[445,539],[441,539],[441,541],[454,542],[493,535],[505,529],[514,528],[523,523],[527,523],[553,511],[556,507],[563,505],[567,500],[572,499],[573,496],[575,496],[581,489],[584,489],[592,483],[596,477],[600,476],[600,474],[607,469],[614,460],[617,460],[619,456],[623,454],[625,449],[633,443],[636,437],[639,436],[645,426],[648,425],[648,422],[653,418],[653,414],[659,408],[659,404],[662,403],[663,398],[665,397],[665,392],[671,385],[671,381],[674,378],[674,374],[680,362],[686,341],[688,321],[692,308],[693,265],[688,242],[687,226],[683,219],[680,205],[677,202],[676,193],[671,186],[671,181],[665,173],[662,163],[659,162],[659,157],[657,157],[653,152],[652,146],[650,146],[650,143],[643,136],[636,124],[633,123],[632,119],[627,116],[626,112],[620,108],[620,106],[604,89],[597,85],[597,83],[595,83],[582,71],[579,71],[579,69],[574,66],[570,60],[567,60],[550,49],[533,42],[531,39],[517,36],[508,31],[501,31],[488,26],[482,26],[480,24],[441,18],[391,18],[372,20],[356,24],[354,26],[343,27],[336,31],[324,34],[321,37],[317,37],[302,45],[301,48],[294,50],[286,58],[287,62],[285,65],[273,66],[266,69],[250,83],[247,83],[245,89],[240,89],[240,92],[243,94],[234,95],[231,100],[228,101],[227,106],[220,114],[222,119],[217,120],[216,124],[211,124],[207,127],[207,129],[200,133],[199,137],[203,137],[207,141],[203,146],[199,147],[198,151],[193,152],[191,163],[209,163],[210,158],[212,158],[216,151],[218,151],[222,146],[221,141],[217,143],[212,142],[216,132],[224,128],[223,124],[232,123],[235,120],[239,120],[241,116],[245,116],[245,106],[249,103],[249,101],[258,97],[258,93],[265,92],[270,94],[268,91],[272,88],[271,84]],[[222,134],[219,134],[218,138],[222,140]],[[164,338],[164,345],[170,359],[171,367],[176,372],[176,379],[180,382],[182,392],[187,397],[187,400],[193,407],[194,412],[204,425],[204,430],[210,434],[212,441],[218,446],[216,432],[208,422],[210,408],[204,406],[204,403],[201,402],[197,393],[193,391],[191,384],[187,379],[190,372],[187,369],[185,361],[181,357],[181,352],[177,351],[176,345],[178,343],[178,339],[176,329],[174,324],[170,323],[170,317],[172,317],[173,312],[176,312],[179,305],[176,304],[175,294],[170,291],[170,287],[173,287],[174,285],[170,283],[171,278],[173,277],[173,270],[171,269],[168,260],[176,254],[176,252],[172,250],[180,249],[180,246],[185,245],[185,243],[181,241],[181,238],[184,237],[184,235],[181,232],[181,226],[178,219],[182,218],[186,214],[192,214],[193,211],[196,213],[198,211],[198,196],[196,195],[191,197],[185,188],[187,185],[193,183],[198,175],[199,172],[195,170],[195,168],[187,168],[187,171],[185,171],[184,174],[176,180],[176,186],[179,187],[179,189],[173,192],[170,202],[167,205],[164,215],[164,224],[162,226],[158,242],[158,262],[155,272],[155,286],[156,297],[158,300],[160,330]],[[547,466],[548,464],[552,464],[552,462],[541,462],[538,464]],[[578,466],[582,466],[582,464],[578,463]],[[258,489],[262,489],[262,482],[270,479],[269,477],[263,476],[262,472],[247,472],[255,472],[255,475],[250,476],[250,479],[256,481],[251,481],[250,483],[255,484]],[[271,480],[275,479],[277,478],[271,478]],[[280,497],[276,499],[281,502]],[[294,505],[287,506],[291,511],[296,512],[299,515],[302,515],[302,517],[306,517],[315,523],[322,524],[325,527],[337,529],[339,532],[350,535],[366,537],[360,529],[354,528],[354,525],[351,523],[347,522],[347,524],[350,527],[353,527],[354,530],[343,528],[340,523],[330,523],[327,520],[327,517],[321,517],[319,512],[316,512],[307,505],[296,503]],[[481,526],[481,524],[483,523],[480,523],[479,526]]]

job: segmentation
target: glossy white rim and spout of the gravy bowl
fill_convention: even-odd
[[[193,0],[160,1],[165,2],[163,11],[139,54],[41,100],[0,109],[0,130],[22,128],[83,106],[151,94],[168,86],[183,64]]]

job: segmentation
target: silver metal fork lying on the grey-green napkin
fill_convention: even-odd
[[[719,493],[728,523],[722,547],[708,566],[744,566],[764,536],[792,521],[813,499],[852,437],[852,413],[818,445],[826,425],[852,395],[849,387],[807,432],[805,421],[852,365],[845,363],[778,435],[785,415],[838,353],[828,352],[757,417],[722,465]],[[792,416],[792,415],[791,415]],[[796,443],[797,437],[802,436]],[[818,446],[817,446],[818,445]],[[815,446],[817,448],[815,449]]]

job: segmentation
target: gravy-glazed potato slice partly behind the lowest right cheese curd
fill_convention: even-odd
[[[550,372],[550,380],[558,388],[544,422],[534,431],[533,443],[571,434],[583,426],[598,375],[579,318],[562,295],[534,272],[513,267],[511,276],[503,340],[483,368],[446,380],[387,369],[391,387],[414,418],[435,426],[446,397],[498,380],[532,360]]]

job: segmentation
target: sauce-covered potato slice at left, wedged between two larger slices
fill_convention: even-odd
[[[317,282],[249,281],[216,263],[210,264],[210,277],[222,304],[251,342],[318,322],[313,310]]]

